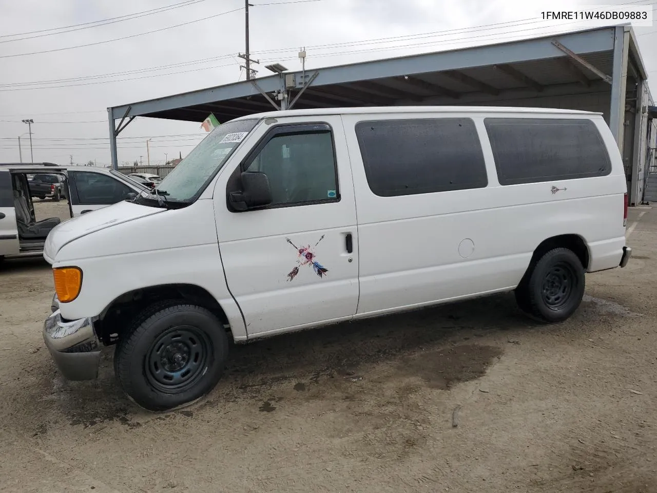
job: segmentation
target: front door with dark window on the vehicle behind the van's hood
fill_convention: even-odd
[[[137,193],[124,181],[109,174],[91,171],[68,172],[68,187],[73,217],[129,199]]]

